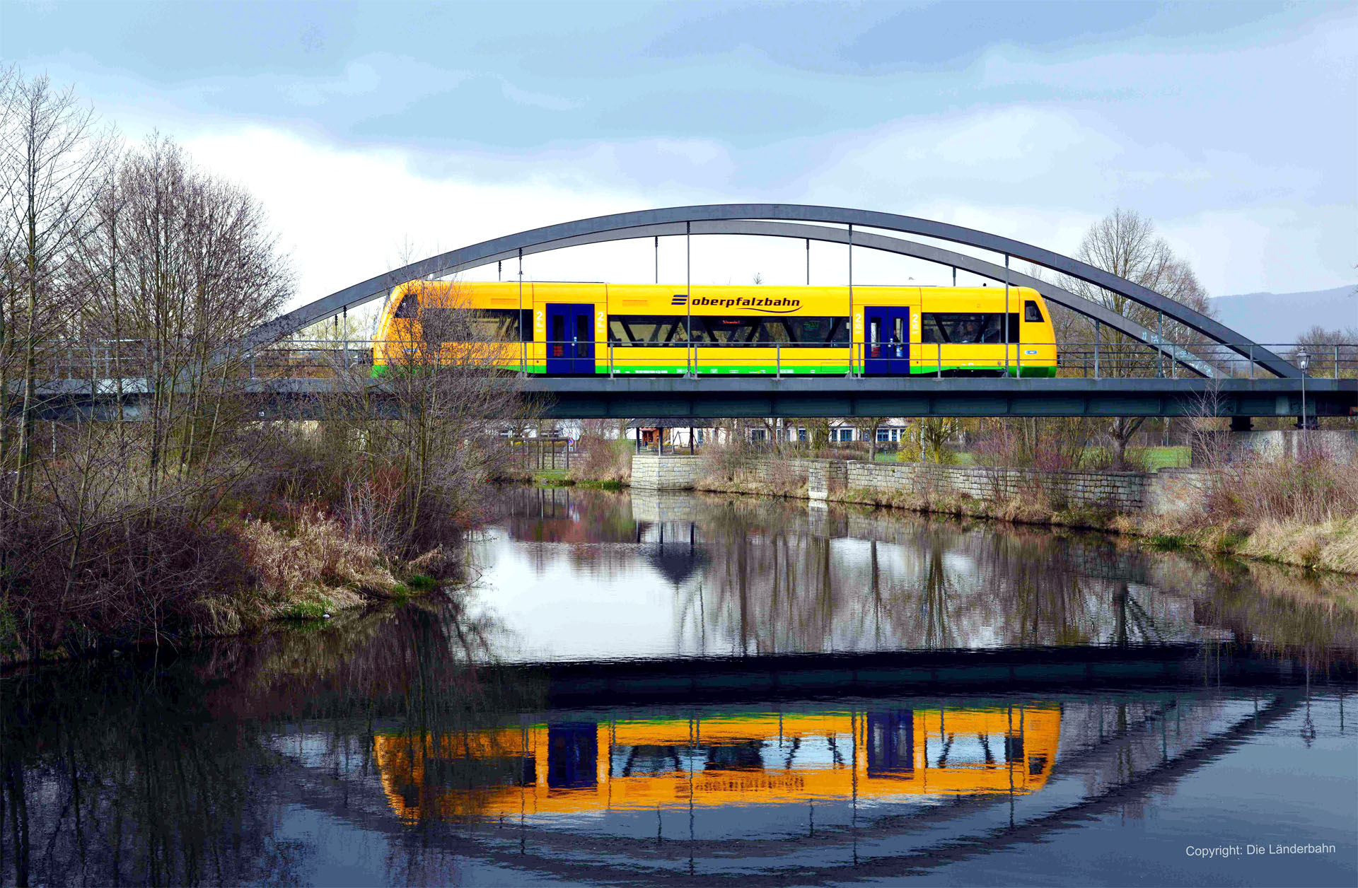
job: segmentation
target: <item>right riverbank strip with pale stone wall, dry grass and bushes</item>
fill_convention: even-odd
[[[640,455],[629,483],[1089,528],[1153,547],[1358,573],[1358,464],[1324,452],[1146,473],[869,463],[710,447],[701,456]]]

